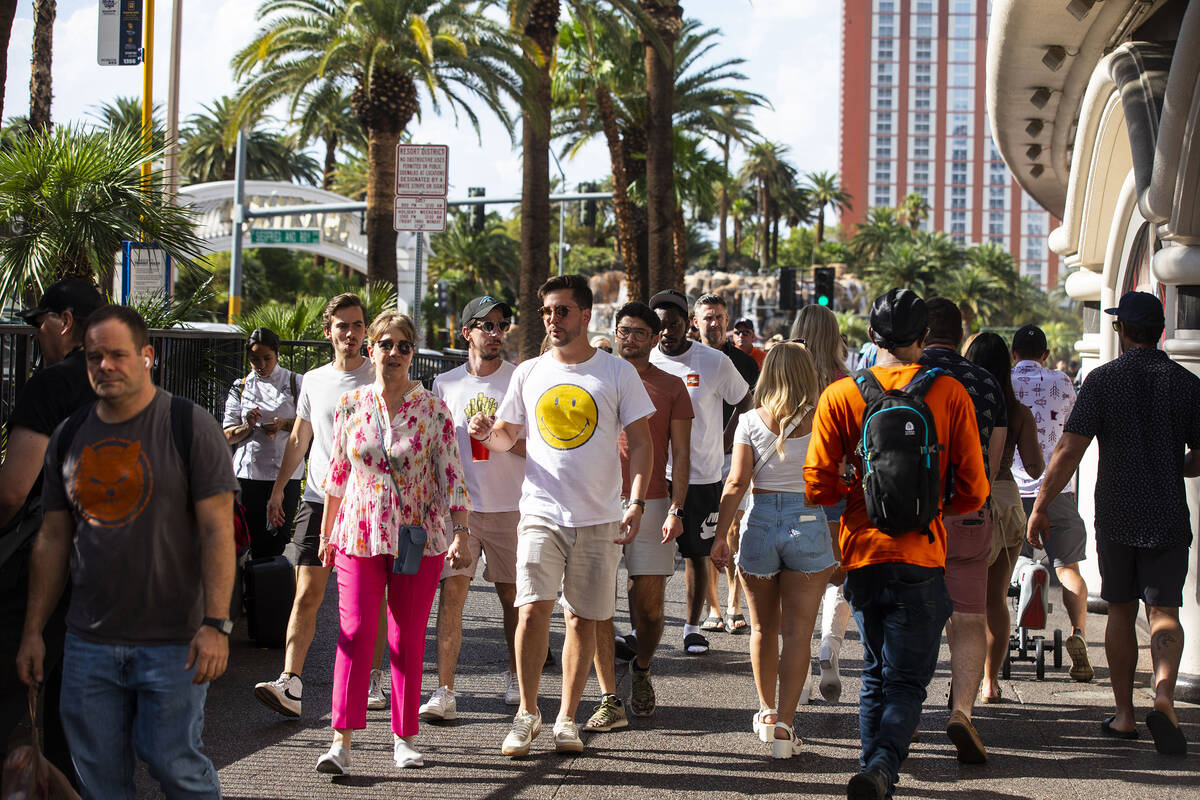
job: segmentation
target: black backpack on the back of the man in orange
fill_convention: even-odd
[[[870,369],[853,373],[866,402],[856,452],[863,459],[863,495],[871,524],[889,536],[920,531],[941,513],[942,476],[934,415],[925,392],[943,369],[922,368],[900,390],[884,391]]]

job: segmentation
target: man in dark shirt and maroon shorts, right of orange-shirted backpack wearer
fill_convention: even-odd
[[[920,363],[940,367],[953,375],[974,404],[979,425],[988,479],[1004,450],[1008,409],[1000,384],[977,363],[959,355],[962,342],[962,314],[946,297],[925,301],[929,309],[929,339]],[[946,733],[959,751],[959,760],[979,764],[986,760],[979,734],[971,723],[983,666],[988,654],[988,558],[991,555],[991,507],[965,515],[944,515],[946,524],[946,587],[954,601],[954,613],[946,625],[950,644],[950,712]]]

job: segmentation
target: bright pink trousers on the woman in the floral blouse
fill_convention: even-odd
[[[334,658],[335,729],[367,727],[371,661],[379,630],[379,602],[388,589],[388,644],[391,656],[391,730],[416,735],[421,704],[425,632],[445,554],[421,559],[416,575],[391,571],[392,557],[370,558],[337,552],[337,656]]]

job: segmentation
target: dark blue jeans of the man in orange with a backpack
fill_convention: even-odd
[[[950,593],[940,569],[872,564],[846,573],[845,594],[863,637],[859,763],[883,770],[890,796],[937,668]]]

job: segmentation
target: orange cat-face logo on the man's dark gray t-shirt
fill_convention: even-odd
[[[140,441],[104,439],[84,445],[76,465],[76,505],[88,521],[115,528],[137,519],[154,488]]]

